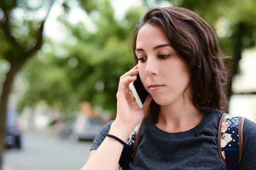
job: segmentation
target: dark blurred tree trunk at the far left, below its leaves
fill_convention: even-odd
[[[19,71],[20,67],[22,66],[23,62],[15,62],[11,63],[11,68],[6,75],[6,79],[3,83],[3,90],[1,96],[1,103],[0,103],[0,170],[2,170],[2,157],[4,152],[4,137],[6,133],[6,111],[7,111],[7,102],[8,96],[12,87],[12,82],[15,77],[17,71]]]

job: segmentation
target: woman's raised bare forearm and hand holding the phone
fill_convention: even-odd
[[[127,141],[134,127],[142,121],[152,100],[152,97],[148,95],[143,108],[140,109],[128,90],[129,84],[137,79],[137,77],[134,77],[139,73],[137,68],[138,66],[136,65],[131,71],[120,77],[116,94],[116,120],[111,124],[108,132],[124,142]],[[103,135],[105,136],[105,134]],[[101,141],[99,148],[81,170],[114,170],[118,167],[124,145],[110,137],[102,138]]]

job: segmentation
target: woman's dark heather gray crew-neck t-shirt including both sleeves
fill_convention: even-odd
[[[191,130],[168,133],[151,121],[141,127],[131,170],[227,170],[218,156],[217,129],[223,112],[215,109]],[[241,114],[242,116],[242,114]],[[110,130],[108,122],[93,141],[97,149]],[[256,123],[245,119],[239,170],[256,170]]]

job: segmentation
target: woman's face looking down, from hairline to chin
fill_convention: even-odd
[[[157,104],[183,99],[190,80],[188,66],[159,27],[146,24],[140,28],[135,52],[140,79]]]

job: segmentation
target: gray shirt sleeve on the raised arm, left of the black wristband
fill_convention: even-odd
[[[105,126],[102,127],[102,129],[99,131],[99,133],[96,135],[96,137],[93,140],[92,147],[90,150],[98,149],[99,146],[102,144],[103,140],[106,138],[106,133],[109,132],[110,126],[114,121],[108,122]]]

